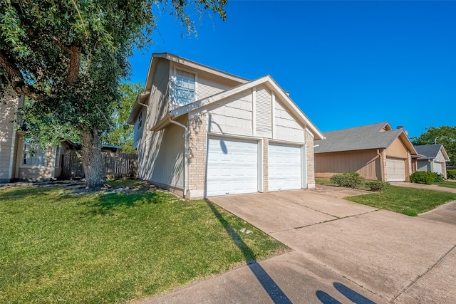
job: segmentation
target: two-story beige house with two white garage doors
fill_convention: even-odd
[[[187,198],[315,187],[323,135],[269,76],[152,55],[135,125],[138,177]]]

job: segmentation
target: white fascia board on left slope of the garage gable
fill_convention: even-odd
[[[261,85],[261,83],[265,83],[266,81],[268,81],[268,78],[269,78],[269,76],[264,76],[257,80],[252,80],[249,83],[244,83],[243,85],[238,85],[237,87],[234,87],[230,90],[226,90],[226,91],[223,91],[216,95],[212,95],[208,98],[204,98],[202,100],[197,100],[197,101],[195,101],[195,103],[189,103],[188,105],[184,105],[180,108],[170,111],[170,115],[173,117],[179,117],[180,115],[184,115],[192,110],[197,110],[197,109],[202,108],[211,103],[215,103],[219,100],[222,100],[222,99],[228,98],[229,96],[232,96],[234,94],[240,93],[244,90],[249,90],[250,88],[254,88],[257,85]]]

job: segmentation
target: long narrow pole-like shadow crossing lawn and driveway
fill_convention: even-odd
[[[271,300],[273,300],[276,304],[291,304],[291,300],[279,288],[279,286],[274,282],[271,276],[269,276],[269,274],[266,273],[264,268],[261,267],[259,263],[257,263],[255,253],[252,251],[252,249],[250,249],[249,246],[247,246],[247,244],[244,243],[244,241],[242,241],[239,234],[237,234],[237,232],[234,231],[232,226],[229,225],[227,220],[223,218],[222,214],[220,214],[217,208],[215,208],[212,201],[209,201],[208,199],[206,199],[205,201],[207,203],[207,206],[209,206],[209,208],[214,213],[215,217],[219,220],[220,224],[222,224],[224,229],[227,231],[227,234],[231,237],[236,246],[244,254],[244,258],[247,262],[247,265],[249,266],[252,273],[257,277],[257,280],[259,281],[259,283],[261,283],[261,286],[263,286],[264,290],[266,290]]]

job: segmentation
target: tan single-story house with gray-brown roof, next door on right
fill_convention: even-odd
[[[410,181],[417,152],[403,127],[388,122],[323,133],[315,142],[315,176],[358,172],[366,179]]]

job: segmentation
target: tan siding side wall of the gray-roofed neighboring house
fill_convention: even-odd
[[[358,172],[371,180],[381,180],[376,150],[315,154],[315,177],[330,178],[343,172]]]

